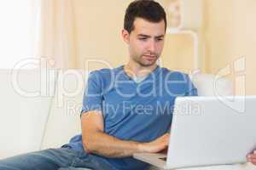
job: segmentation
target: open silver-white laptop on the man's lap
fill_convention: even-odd
[[[256,96],[179,97],[168,149],[134,158],[162,169],[247,162],[256,149]]]

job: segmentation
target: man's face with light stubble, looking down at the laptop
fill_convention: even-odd
[[[165,21],[153,23],[136,18],[133,26],[134,30],[130,34],[123,31],[131,59],[142,66],[154,65],[164,47]]]

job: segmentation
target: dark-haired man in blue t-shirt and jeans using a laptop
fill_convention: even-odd
[[[0,169],[146,169],[148,164],[132,154],[165,150],[174,99],[197,94],[187,75],[156,64],[165,33],[166,13],[159,3],[131,3],[122,31],[130,60],[91,72],[81,111],[82,134],[59,149],[0,161]],[[250,156],[256,162],[256,155]]]

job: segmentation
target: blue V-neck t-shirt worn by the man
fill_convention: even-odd
[[[102,111],[104,133],[118,139],[149,142],[169,131],[175,98],[188,95],[197,95],[197,90],[182,72],[157,66],[137,83],[126,75],[122,65],[90,73],[81,113]],[[81,134],[68,145],[83,150]],[[132,157],[102,159],[118,170],[148,166]]]

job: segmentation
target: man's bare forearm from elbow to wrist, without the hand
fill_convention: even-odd
[[[117,139],[102,132],[94,133],[86,140],[83,138],[83,143],[85,150],[106,157],[127,157],[144,151],[143,143]]]

